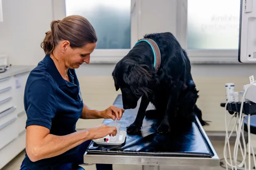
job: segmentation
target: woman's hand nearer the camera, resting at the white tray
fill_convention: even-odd
[[[94,139],[99,139],[99,138],[104,138],[105,136],[116,136],[117,134],[117,128],[116,127],[111,127],[107,125],[99,125],[97,127],[93,127],[88,129],[89,131],[89,136],[91,140]]]

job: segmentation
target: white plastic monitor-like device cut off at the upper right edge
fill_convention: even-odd
[[[256,1],[241,0],[238,61],[256,62]]]

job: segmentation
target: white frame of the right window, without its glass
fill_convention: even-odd
[[[177,0],[177,39],[192,63],[239,64],[238,49],[187,49],[187,16],[188,0]]]

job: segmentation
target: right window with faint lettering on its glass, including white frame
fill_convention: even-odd
[[[190,61],[238,63],[240,0],[177,0],[177,39]]]

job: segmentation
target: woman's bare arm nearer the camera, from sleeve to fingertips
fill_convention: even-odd
[[[100,125],[95,128],[77,131],[65,136],[49,134],[43,126],[30,125],[26,128],[26,153],[31,161],[38,161],[60,155],[86,140],[103,138],[117,133],[115,127]]]

